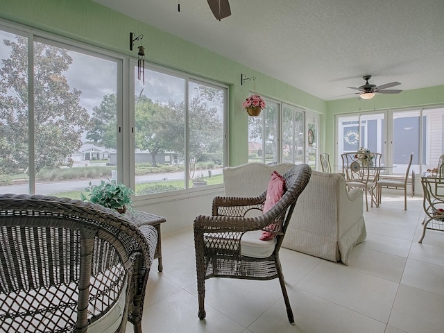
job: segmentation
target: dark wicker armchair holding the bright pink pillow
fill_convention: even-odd
[[[296,200],[309,182],[310,175],[311,169],[307,164],[292,167],[284,173],[287,191],[265,214],[246,217],[254,210],[262,212],[266,191],[255,198],[217,196],[213,200],[212,216],[196,217],[194,243],[200,319],[205,318],[206,315],[204,307],[206,279],[213,277],[250,280],[279,278],[287,315],[290,323],[294,323],[282,274],[279,250]],[[272,241],[259,241],[261,230],[270,225],[273,225],[273,228],[269,230],[280,229],[276,232],[276,237]],[[276,225],[280,228],[276,228]],[[253,242],[252,248],[255,248],[257,255],[253,253],[253,250],[246,253],[248,248],[246,241]],[[259,250],[257,250],[258,247]]]

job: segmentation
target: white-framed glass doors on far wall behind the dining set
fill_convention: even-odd
[[[383,154],[386,172],[403,174],[413,153],[411,169],[420,174],[437,167],[444,153],[444,108],[341,115],[336,123],[339,161],[364,146]]]

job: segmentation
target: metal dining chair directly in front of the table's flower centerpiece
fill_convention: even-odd
[[[370,195],[370,207],[377,205],[377,180],[380,168],[373,167],[372,157],[374,153],[343,153],[342,172],[345,175],[345,186],[348,190],[359,188],[366,196],[366,210],[368,212],[368,196]]]

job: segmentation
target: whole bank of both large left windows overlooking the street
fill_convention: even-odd
[[[107,178],[137,196],[223,184],[228,87],[159,67],[142,83],[126,56],[15,24],[2,22],[0,39],[0,192],[80,198]]]

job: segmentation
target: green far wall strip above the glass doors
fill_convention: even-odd
[[[400,86],[402,89],[402,86]],[[428,87],[422,89],[412,89],[395,95],[377,94],[373,99],[340,99],[337,101],[327,101],[327,114],[325,123],[332,126],[325,126],[325,137],[334,137],[334,116],[342,113],[360,113],[373,110],[390,109],[411,109],[439,105],[444,106],[444,85]],[[325,151],[334,154],[336,140],[326,140]]]

